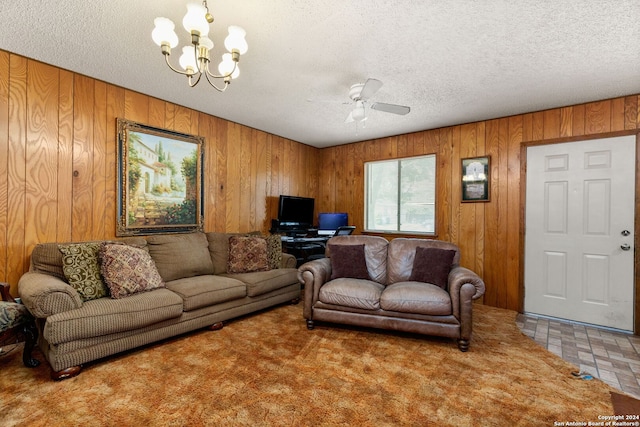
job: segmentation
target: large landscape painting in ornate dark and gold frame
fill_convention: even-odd
[[[117,236],[203,227],[204,137],[117,119]]]

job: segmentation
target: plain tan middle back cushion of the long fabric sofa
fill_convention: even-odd
[[[213,274],[209,242],[204,233],[149,236],[147,247],[165,282]]]

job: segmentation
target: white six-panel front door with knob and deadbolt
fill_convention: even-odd
[[[635,139],[527,148],[526,312],[633,330]]]

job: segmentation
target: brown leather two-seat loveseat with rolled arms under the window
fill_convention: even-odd
[[[345,263],[354,270],[347,276],[359,275],[353,267],[358,264],[357,258],[345,255],[343,246],[349,245],[364,246],[368,277],[335,277],[336,268],[344,270]],[[332,252],[339,258],[335,253],[332,258]],[[434,254],[450,255],[451,259],[446,264],[436,260]],[[427,239],[397,238],[388,242],[377,236],[339,236],[327,242],[326,255],[298,268],[298,279],[305,288],[304,318],[309,329],[316,321],[326,321],[406,331],[455,338],[461,351],[468,350],[472,301],[484,294],[485,285],[477,274],[458,265],[460,252],[456,245]],[[444,274],[442,287],[416,279],[438,268]]]

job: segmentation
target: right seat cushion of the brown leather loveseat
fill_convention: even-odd
[[[439,286],[422,282],[398,282],[388,285],[380,296],[380,308],[432,316],[452,314],[449,293]]]

